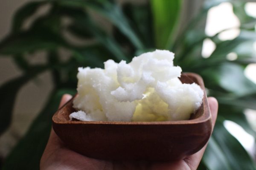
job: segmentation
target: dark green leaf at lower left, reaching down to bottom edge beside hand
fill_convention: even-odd
[[[73,89],[59,89],[51,93],[43,111],[6,158],[2,170],[39,170],[40,159],[49,138],[52,115],[58,109],[61,96],[66,93],[76,92]]]

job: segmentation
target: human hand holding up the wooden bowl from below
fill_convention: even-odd
[[[64,105],[72,96],[65,94],[60,102]],[[208,98],[214,127],[218,112],[218,102],[215,98]],[[132,162],[105,161],[89,158],[70,150],[58,138],[53,130],[49,136],[47,146],[40,162],[41,170],[196,170],[200,163],[206,145],[197,153],[183,160],[172,162]]]

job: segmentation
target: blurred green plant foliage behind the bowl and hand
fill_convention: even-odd
[[[218,38],[219,33],[210,37],[202,31],[204,28],[198,30],[209,9],[222,2],[232,3],[234,14],[241,22],[241,32],[234,40],[222,41]],[[256,109],[256,85],[244,76],[244,68],[256,62],[252,50],[256,40],[256,20],[246,14],[244,5],[244,2],[237,0],[206,0],[201,11],[178,34],[183,6],[180,0],[150,0],[145,4],[125,3],[122,6],[114,0],[42,0],[26,3],[16,11],[10,34],[0,42],[2,57],[11,57],[22,72],[20,77],[0,87],[0,134],[10,125],[17,92],[23,85],[44,71],[50,71],[54,90],[43,111],[6,158],[2,169],[39,168],[51,127],[51,116],[57,110],[62,94],[76,93],[79,66],[102,67],[107,59],[129,62],[132,57],[155,48],[173,51],[175,65],[180,65],[184,72],[200,74],[208,95],[215,96],[219,101],[215,130],[198,169],[256,169],[244,147],[223,125],[224,120],[231,120],[256,137],[243,113],[246,108]],[[47,13],[35,17],[27,26],[26,21],[45,6],[49,8]],[[99,23],[95,16],[107,20],[111,30]],[[83,43],[73,43],[67,35],[83,40]],[[206,38],[216,44],[209,58],[201,56]],[[67,60],[61,59],[60,49],[69,51]],[[29,62],[26,55],[37,51],[47,52],[45,64]],[[230,52],[236,52],[238,58],[227,60]]]

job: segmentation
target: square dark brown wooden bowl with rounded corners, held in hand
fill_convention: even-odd
[[[183,83],[204,82],[193,73],[182,74]],[[73,98],[74,99],[74,98]],[[97,159],[170,161],[198,152],[212,132],[207,96],[189,120],[166,122],[70,121],[73,99],[52,117],[52,126],[70,149]]]

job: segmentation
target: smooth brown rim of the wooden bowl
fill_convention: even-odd
[[[161,121],[161,122],[119,122],[119,121],[72,121],[72,120],[64,120],[61,119],[61,112],[63,112],[63,108],[67,107],[67,105],[71,105],[73,102],[73,99],[76,97],[73,96],[72,99],[70,99],[67,103],[65,103],[61,108],[58,109],[52,116],[52,122],[55,124],[96,124],[96,125],[191,125],[191,124],[198,124],[202,122],[206,122],[209,119],[211,119],[211,113],[209,110],[209,103],[207,99],[207,95],[205,92],[204,82],[201,76],[195,73],[182,73],[183,76],[187,77],[194,77],[197,81],[195,82],[198,84],[202,90],[204,91],[204,97],[201,107],[204,107],[204,113],[196,118],[196,119],[189,119],[189,120],[177,120],[177,121]],[[201,108],[200,107],[200,108]]]

